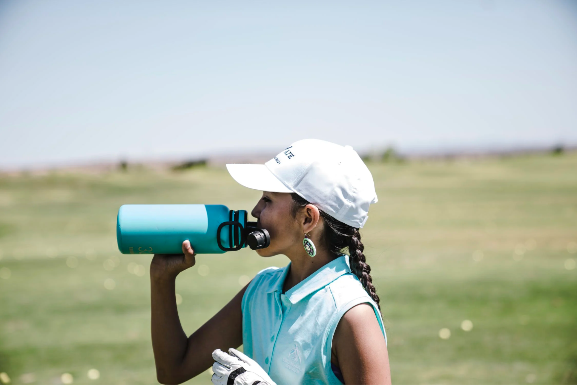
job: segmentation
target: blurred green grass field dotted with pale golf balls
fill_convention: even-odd
[[[576,383],[577,154],[369,167],[380,201],[362,236],[393,382]],[[0,176],[0,372],[12,383],[70,380],[62,373],[74,383],[156,383],[151,257],[118,252],[118,207],[250,210],[259,197],[204,167]],[[198,256],[177,281],[185,331],[243,276],[287,261],[250,250]]]

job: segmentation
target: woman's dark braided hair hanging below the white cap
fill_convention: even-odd
[[[309,201],[298,195],[291,193],[293,198],[293,218],[297,216],[297,212],[302,210]],[[366,292],[369,293],[370,298],[379,306],[379,296],[377,296],[376,289],[373,285],[373,278],[370,276],[370,266],[366,263],[365,255],[362,253],[365,246],[361,242],[361,234],[357,227],[346,225],[340,220],[336,220],[328,215],[323,210],[319,210],[321,218],[324,221],[323,241],[328,248],[328,251],[334,255],[341,255],[344,249],[349,249],[349,264],[351,271],[361,281],[362,286]]]

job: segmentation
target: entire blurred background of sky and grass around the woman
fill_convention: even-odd
[[[126,203],[350,144],[394,383],[577,383],[577,3],[0,0],[0,382],[156,383]],[[190,334],[284,256],[198,256]],[[207,383],[209,371],[190,380]]]

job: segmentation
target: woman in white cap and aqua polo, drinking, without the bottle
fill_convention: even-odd
[[[181,383],[212,365],[219,384],[390,383],[379,296],[358,233],[377,196],[357,152],[306,139],[265,165],[227,169],[240,184],[263,190],[252,215],[271,243],[258,255],[283,254],[290,263],[259,272],[187,338],[174,290],[178,273],[194,265],[194,245],[183,242],[183,255],[155,255],[159,382]],[[240,345],[245,354],[233,349]]]

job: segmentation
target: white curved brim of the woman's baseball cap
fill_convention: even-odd
[[[283,182],[279,181],[265,165],[228,164],[226,169],[235,181],[249,189],[269,192],[293,192]]]

